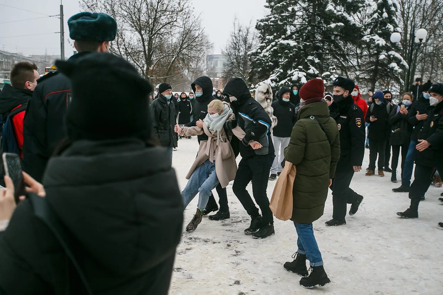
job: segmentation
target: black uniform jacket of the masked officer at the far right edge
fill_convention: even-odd
[[[431,145],[416,155],[416,164],[428,167],[443,165],[443,101],[431,108],[418,139],[424,139]]]

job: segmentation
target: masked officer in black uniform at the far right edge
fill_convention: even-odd
[[[432,84],[428,92],[432,109],[418,134],[414,181],[409,190],[411,205],[406,211],[397,212],[403,218],[418,217],[418,205],[431,184],[435,170],[443,171],[443,83]]]

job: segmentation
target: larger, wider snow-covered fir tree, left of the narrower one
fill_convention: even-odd
[[[270,12],[256,24],[259,46],[250,52],[250,82],[279,86],[346,75],[350,45],[363,31],[352,15],[364,5],[365,0],[267,0]]]

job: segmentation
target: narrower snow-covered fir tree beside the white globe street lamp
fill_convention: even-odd
[[[362,38],[361,59],[357,61],[357,80],[371,88],[401,84],[401,72],[408,65],[400,49],[390,42],[393,32],[400,32],[395,0],[373,0],[369,21]]]

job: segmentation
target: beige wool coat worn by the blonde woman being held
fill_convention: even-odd
[[[228,120],[235,120],[235,115],[231,113]],[[202,165],[204,161],[209,159],[214,163],[215,153],[215,172],[217,173],[218,181],[222,188],[227,187],[229,181],[232,181],[235,178],[235,174],[237,173],[237,162],[235,161],[235,155],[225,130],[221,129],[220,131],[221,139],[218,142],[218,145],[217,131],[211,133],[206,124],[203,124],[203,129],[198,128],[197,126],[183,127],[183,132],[183,136],[185,137],[201,135],[203,133],[208,136],[208,140],[202,140],[200,142],[197,158],[195,158],[194,164],[192,164],[186,179],[189,179],[194,170]],[[232,132],[240,140],[245,137],[245,131],[243,131],[240,126],[235,127]]]

